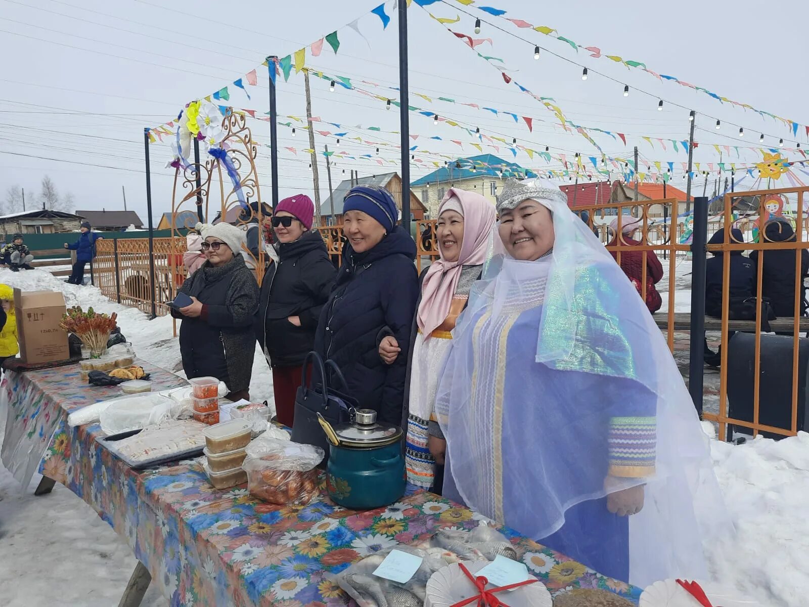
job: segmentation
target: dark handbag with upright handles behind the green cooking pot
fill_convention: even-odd
[[[307,377],[307,367],[311,363],[311,383]],[[328,367],[329,375],[326,375]],[[329,385],[329,378],[332,384]],[[318,382],[318,380],[320,380]],[[337,426],[337,424],[347,423],[351,417],[351,411],[357,408],[357,401],[349,397],[348,386],[345,378],[333,360],[323,359],[317,352],[310,352],[303,360],[303,372],[301,374],[301,385],[298,393],[295,394],[295,413],[292,423],[292,440],[295,443],[316,445],[324,450],[326,456],[323,464],[328,461],[328,439],[323,428],[320,427],[317,414],[321,414],[324,419]]]

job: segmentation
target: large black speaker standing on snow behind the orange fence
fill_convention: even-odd
[[[759,367],[759,423],[790,430],[792,427],[792,350],[793,337],[762,335]],[[809,339],[798,339],[798,430],[806,427],[807,394],[809,394]],[[729,417],[753,421],[753,393],[756,377],[756,336],[736,333],[728,342],[727,400]],[[742,426],[737,432],[752,435]],[[770,439],[783,435],[761,432]]]

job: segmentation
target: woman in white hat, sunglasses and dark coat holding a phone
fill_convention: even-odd
[[[225,382],[233,401],[249,399],[258,283],[239,253],[244,231],[229,223],[197,223],[196,229],[206,261],[180,287],[192,303],[172,308],[172,316],[182,320],[183,370],[189,379],[211,376]]]

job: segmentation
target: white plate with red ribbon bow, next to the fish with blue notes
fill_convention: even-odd
[[[475,573],[489,564],[489,561],[465,562],[469,573]],[[489,584],[489,588],[493,588]],[[460,589],[460,592],[459,592]],[[427,600],[424,607],[449,607],[457,601],[463,601],[477,595],[477,588],[461,571],[458,563],[447,565],[436,571],[427,582]],[[542,582],[527,584],[514,590],[498,592],[496,596],[510,607],[552,607],[553,599],[548,588]]]

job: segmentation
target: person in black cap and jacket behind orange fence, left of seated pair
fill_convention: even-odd
[[[731,230],[733,238],[731,243],[743,242],[742,231],[738,228]],[[725,229],[720,228],[714,236],[710,237],[709,244],[722,244],[725,242]],[[705,261],[705,314],[722,318],[722,272],[723,253],[714,253],[714,257]],[[730,299],[747,299],[756,292],[756,264],[749,257],[744,257],[741,251],[731,252]]]

